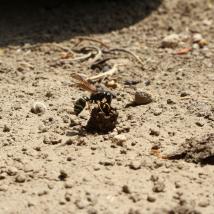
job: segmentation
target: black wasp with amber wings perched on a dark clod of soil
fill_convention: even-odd
[[[78,81],[77,86],[91,92],[90,97],[83,96],[74,104],[74,113],[79,115],[85,108],[87,103],[96,103],[100,110],[110,109],[111,101],[114,95],[110,91],[98,90],[96,86],[89,83],[84,77],[79,74],[73,74],[72,77]]]

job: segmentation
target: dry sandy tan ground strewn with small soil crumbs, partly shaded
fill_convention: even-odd
[[[20,4],[0,12],[0,213],[214,213],[214,5]],[[161,47],[171,34],[179,41]],[[71,60],[78,36],[143,61],[120,53],[108,62],[123,64],[109,78],[118,84],[119,118],[108,134],[83,131],[87,109],[73,114],[87,93],[71,74],[98,73],[90,60]],[[140,83],[125,85],[130,80]],[[125,108],[139,89],[153,101]],[[31,112],[35,102],[46,106],[43,114]]]

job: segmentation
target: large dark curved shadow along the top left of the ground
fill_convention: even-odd
[[[0,46],[60,42],[106,33],[144,19],[162,0],[16,0],[1,2]]]

